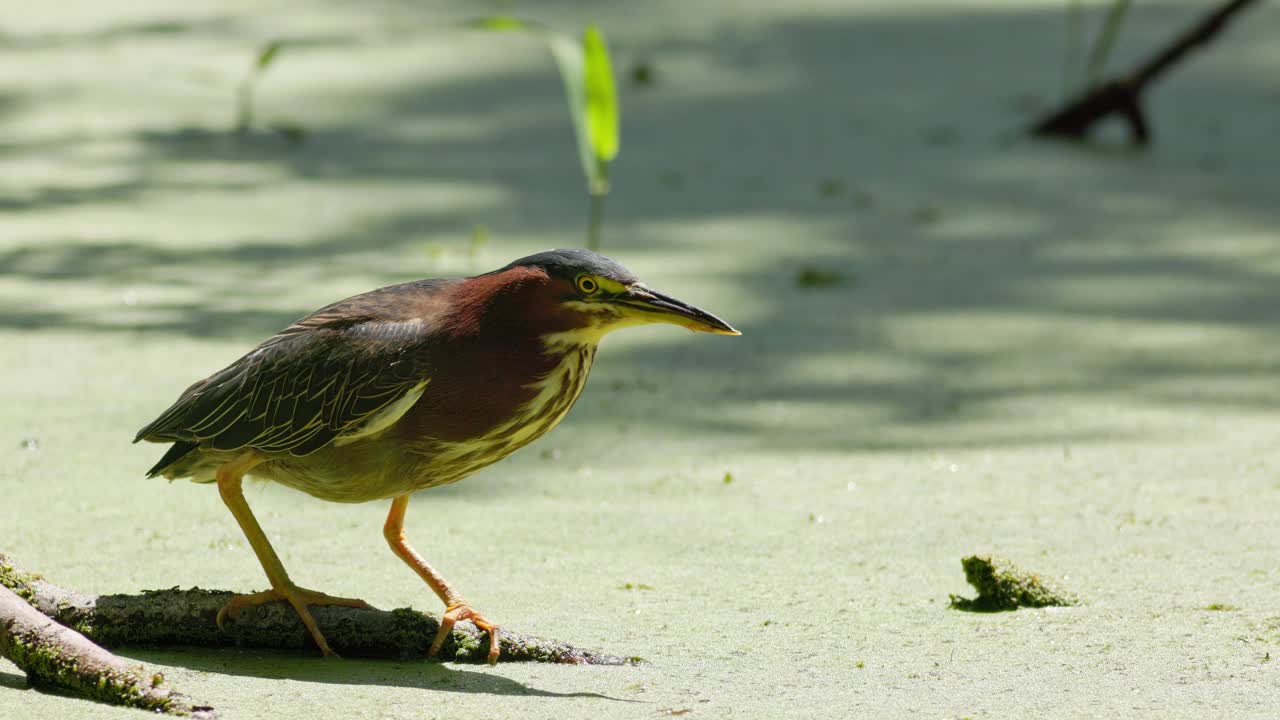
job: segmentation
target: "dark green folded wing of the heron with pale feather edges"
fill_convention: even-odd
[[[343,310],[305,318],[191,386],[134,442],[302,456],[407,410],[430,378],[424,320]]]

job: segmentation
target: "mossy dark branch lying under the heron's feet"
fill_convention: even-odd
[[[27,598],[40,612],[74,628],[105,647],[198,646],[257,647],[268,650],[314,648],[297,614],[274,602],[243,610],[219,629],[218,610],[234,594],[229,591],[166,589],[138,594],[83,596],[24,573],[0,553],[0,585]],[[349,657],[426,659],[439,621],[411,609],[362,610],[316,606],[311,609],[330,647]],[[502,630],[500,662],[558,662],[626,665],[617,657],[571,644]],[[485,662],[488,635],[471,624],[454,626],[438,659]]]

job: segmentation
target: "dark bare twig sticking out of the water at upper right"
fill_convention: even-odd
[[[1151,127],[1142,110],[1142,94],[1192,50],[1207,45],[1231,17],[1257,0],[1230,0],[1179,35],[1146,63],[1119,78],[1096,85],[1065,106],[1036,120],[1032,133],[1083,140],[1102,119],[1119,114],[1129,124],[1135,145],[1151,142]]]

